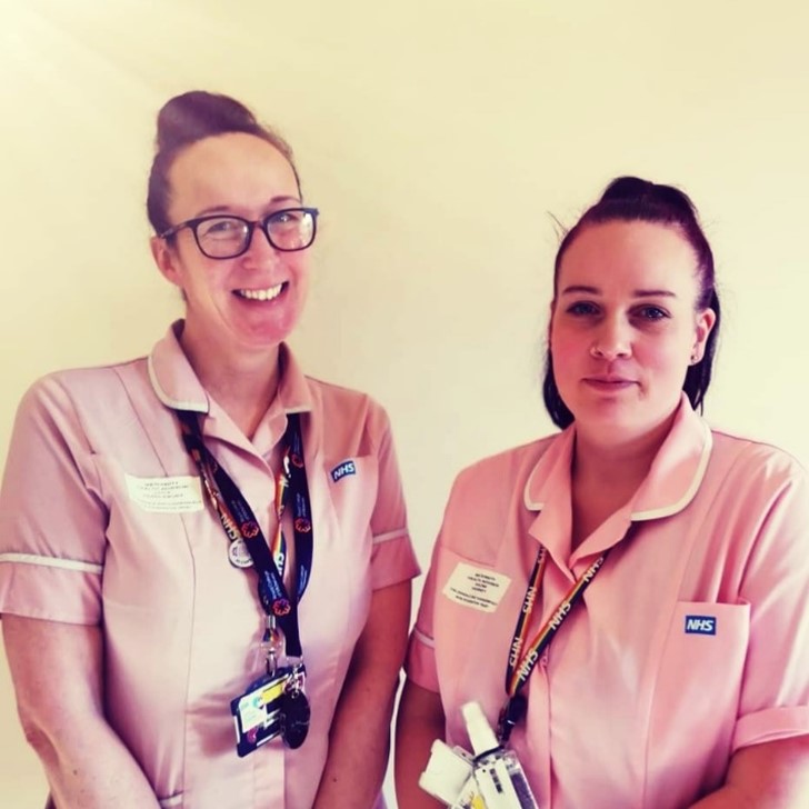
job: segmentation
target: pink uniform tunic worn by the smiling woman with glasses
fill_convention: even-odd
[[[0,495],[0,611],[103,627],[108,719],[162,807],[303,809],[371,592],[418,572],[390,427],[369,397],[304,377],[282,347],[278,396],[249,441],[201,387],[178,328],[148,358],[54,373],[24,397]],[[314,553],[299,607],[312,717],[298,750],[273,740],[236,755],[230,700],[261,673],[263,612],[253,571],[228,561],[174,408],[200,413],[266,537],[272,449],[287,413],[302,413]]]

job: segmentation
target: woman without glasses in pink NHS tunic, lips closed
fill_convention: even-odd
[[[419,773],[436,738],[470,749],[472,700],[542,809],[809,806],[809,485],[698,416],[719,316],[681,191],[620,178],[565,236],[543,388],[561,432],[456,481],[400,806],[439,806]]]

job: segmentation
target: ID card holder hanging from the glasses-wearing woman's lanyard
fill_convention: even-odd
[[[283,696],[290,670],[278,669],[251,682],[244,693],[230,701],[236,725],[236,752],[249,756],[274,739],[282,729]]]

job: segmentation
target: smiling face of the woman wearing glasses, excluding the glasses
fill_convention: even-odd
[[[210,213],[260,220],[300,206],[292,167],[271,143],[228,133],[197,141],[169,171],[172,224]],[[309,287],[308,250],[281,252],[263,232],[233,259],[203,256],[189,228],[156,237],[161,272],[186,299],[183,344],[196,356],[271,353],[298,323]]]

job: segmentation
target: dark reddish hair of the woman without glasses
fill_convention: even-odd
[[[557,251],[553,264],[553,297],[559,282],[559,268],[562,257],[573,240],[593,224],[605,222],[653,222],[677,229],[693,249],[697,257],[697,276],[699,278],[699,297],[697,309],[710,308],[716,312],[713,323],[705,347],[702,359],[689,366],[682,390],[686,391],[691,407],[702,410],[702,400],[708,392],[713,368],[713,354],[719,338],[719,296],[717,294],[713,253],[708,239],[699,223],[697,208],[689,197],[671,186],[662,186],[637,177],[619,177],[612,180],[601,199],[588,208],[579,221],[565,234]],[[542,382],[545,407],[557,427],[566,428],[572,423],[573,415],[559,394],[553,377],[553,359],[550,347],[546,354],[545,380]]]

